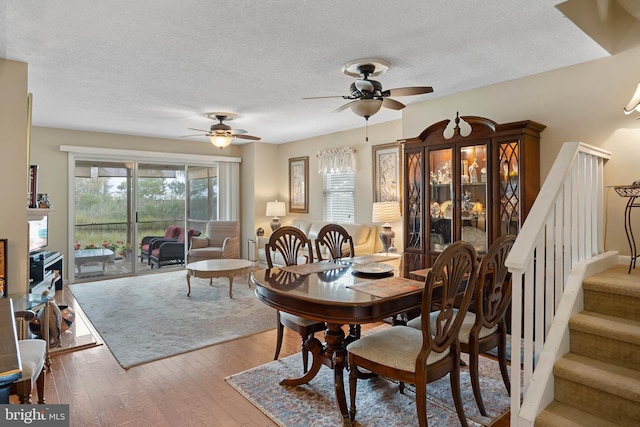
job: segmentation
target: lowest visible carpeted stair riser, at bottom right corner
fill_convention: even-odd
[[[640,405],[555,376],[555,400],[622,426],[638,426]]]

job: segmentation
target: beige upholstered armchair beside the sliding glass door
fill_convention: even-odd
[[[240,258],[240,221],[209,221],[204,236],[193,237],[187,262]]]

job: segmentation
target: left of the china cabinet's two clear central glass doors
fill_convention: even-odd
[[[442,251],[453,238],[453,150],[429,151],[429,249]]]

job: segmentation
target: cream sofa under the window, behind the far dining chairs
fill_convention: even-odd
[[[309,240],[311,240],[311,245],[313,246],[314,251],[314,261],[318,260],[318,257],[315,255],[316,242],[315,239],[318,237],[318,232],[322,227],[326,224],[330,224],[329,221],[308,221],[305,219],[295,219],[291,223],[293,227],[296,227],[302,230]],[[353,246],[355,250],[355,254],[357,256],[360,255],[368,255],[375,252],[376,239],[378,238],[377,227],[375,225],[365,225],[365,224],[339,224],[344,227],[345,230],[353,237]],[[269,243],[269,237],[259,236],[256,240],[258,247],[258,262],[261,265],[267,264],[267,256],[265,254],[265,246]],[[326,252],[326,248],[323,247],[323,251]],[[303,251],[301,256],[308,256],[307,251]],[[323,253],[322,257],[324,259],[329,258],[328,254]],[[274,264],[275,265],[284,265],[284,260],[282,259],[279,253],[275,254]],[[301,260],[301,262],[306,262],[306,258]]]

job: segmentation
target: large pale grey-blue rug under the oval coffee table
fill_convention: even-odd
[[[70,285],[78,304],[120,365],[142,363],[275,328],[276,311],[258,300],[247,276],[229,281],[168,273]]]

